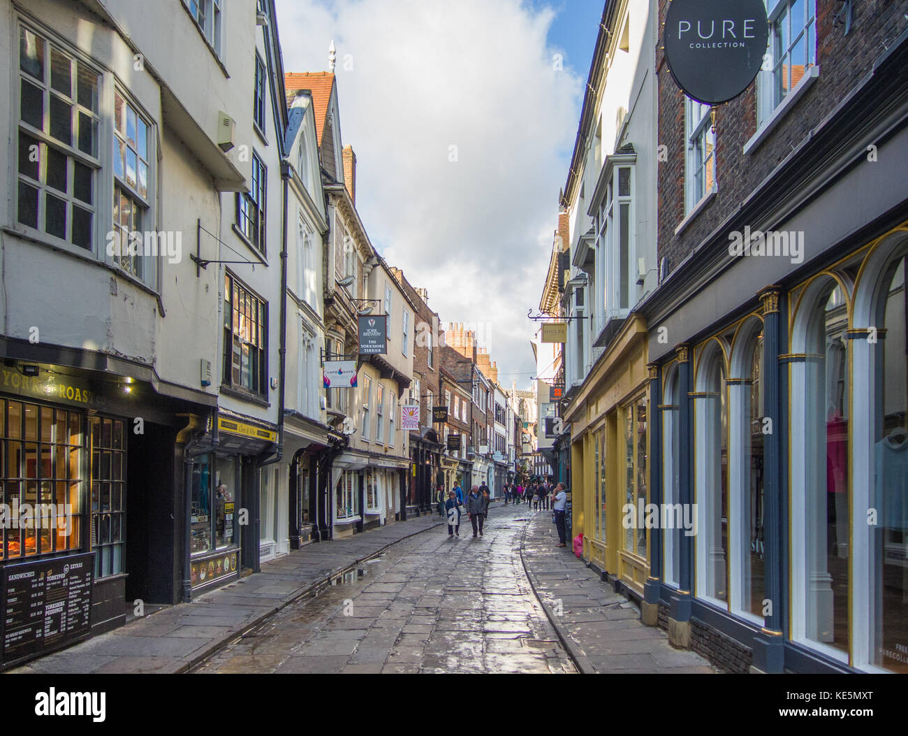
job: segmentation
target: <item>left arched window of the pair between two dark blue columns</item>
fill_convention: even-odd
[[[696,383],[696,592],[728,600],[728,402],[725,355],[713,341]]]

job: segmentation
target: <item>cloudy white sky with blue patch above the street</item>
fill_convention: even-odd
[[[535,374],[527,311],[548,268],[601,7],[277,0],[285,71],[327,70],[337,48],[341,135],[372,244],[429,290],[442,322],[478,327],[506,388]]]

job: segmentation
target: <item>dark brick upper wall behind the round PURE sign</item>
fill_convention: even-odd
[[[662,23],[668,5],[668,0],[659,2]],[[877,56],[908,25],[904,17],[908,4],[904,0],[860,0],[854,3],[851,32],[845,36],[844,25],[833,25],[840,6],[836,0],[817,0],[816,61],[820,76],[749,155],[743,149],[756,132],[756,85],[719,107],[716,114],[718,193],[677,236],[675,228],[685,216],[684,95],[668,71],[665,52],[656,48],[658,143],[667,149],[667,161],[659,164],[658,172],[658,256],[660,262],[663,257],[668,259],[669,271],[674,271],[804,141],[810,130],[871,71]]]

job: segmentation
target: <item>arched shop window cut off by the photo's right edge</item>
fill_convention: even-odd
[[[884,238],[854,298],[852,659],[872,671],[908,672],[906,270],[908,239]]]

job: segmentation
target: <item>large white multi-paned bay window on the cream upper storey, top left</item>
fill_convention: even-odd
[[[15,222],[156,288],[156,257],[173,244],[156,234],[151,118],[114,75],[49,33],[25,24],[18,31]]]

